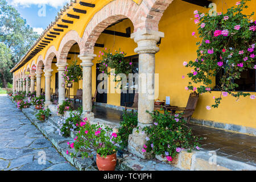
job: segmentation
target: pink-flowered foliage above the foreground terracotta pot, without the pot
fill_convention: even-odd
[[[115,144],[120,142],[120,136],[113,133],[109,127],[102,129],[100,125],[90,125],[89,122],[81,123],[79,133],[74,139],[74,143],[68,143],[69,147],[75,148],[76,153],[71,153],[76,158],[77,152],[81,152],[82,158],[93,156],[92,152],[96,151],[101,157],[115,154],[117,147]],[[68,151],[67,151],[68,154]]]

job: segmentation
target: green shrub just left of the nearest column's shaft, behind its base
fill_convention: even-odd
[[[138,125],[138,113],[123,113],[123,121],[120,123],[118,134],[121,137],[121,147],[125,148],[128,145],[129,135],[133,133],[133,129]]]

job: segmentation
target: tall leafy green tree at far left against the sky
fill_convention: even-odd
[[[38,37],[39,35],[32,30],[14,7],[7,5],[5,0],[0,0],[0,42],[5,44],[11,54],[8,68],[0,60],[0,68],[5,67],[5,75],[7,75],[1,77],[3,87],[7,86],[5,81],[6,84],[11,82],[10,68],[22,59]]]

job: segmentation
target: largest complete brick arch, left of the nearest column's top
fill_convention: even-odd
[[[80,54],[93,53],[94,44],[101,32],[110,24],[117,22],[117,20],[129,18],[135,26],[135,14],[138,8],[139,5],[132,0],[115,0],[104,6],[85,27],[84,34],[82,35],[83,47],[80,49]]]

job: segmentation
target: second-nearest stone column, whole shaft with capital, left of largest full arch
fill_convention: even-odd
[[[94,119],[92,113],[92,60],[96,55],[80,55],[82,60],[82,110],[83,117],[88,118],[89,121]]]

